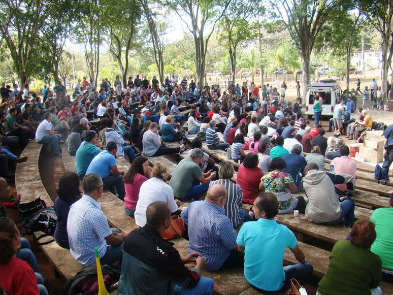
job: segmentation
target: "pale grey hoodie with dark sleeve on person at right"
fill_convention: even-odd
[[[308,198],[306,218],[313,223],[334,221],[340,218],[341,206],[335,184],[348,183],[352,176],[310,170],[303,177],[303,189]]]

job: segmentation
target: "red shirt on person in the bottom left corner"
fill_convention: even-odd
[[[39,295],[36,275],[25,261],[12,257],[7,264],[0,265],[0,274],[0,286],[6,294]]]

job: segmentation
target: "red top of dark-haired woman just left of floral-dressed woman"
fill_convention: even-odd
[[[264,174],[258,167],[245,168],[243,163],[241,163],[236,184],[239,184],[243,190],[243,202],[247,204],[254,203],[259,194],[259,183],[262,176]]]

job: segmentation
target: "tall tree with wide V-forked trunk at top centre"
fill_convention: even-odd
[[[196,82],[204,86],[205,59],[209,39],[213,34],[217,22],[223,16],[231,0],[165,0],[180,19],[186,24],[193,36],[195,45],[195,73]],[[189,17],[191,26],[184,19],[183,14]],[[205,28],[211,24],[210,32],[205,38]]]

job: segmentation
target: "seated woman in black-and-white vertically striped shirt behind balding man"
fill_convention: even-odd
[[[210,186],[221,184],[226,189],[226,202],[224,205],[225,215],[231,219],[232,225],[236,228],[239,224],[252,220],[252,217],[241,208],[243,200],[243,190],[238,184],[231,181],[235,169],[231,162],[222,161],[218,170],[218,180],[210,182]]]

